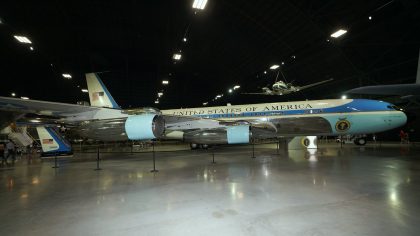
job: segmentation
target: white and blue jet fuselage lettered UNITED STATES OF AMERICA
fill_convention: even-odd
[[[336,99],[162,110],[224,122],[245,121],[276,136],[377,133],[404,125],[406,115],[392,104]]]

